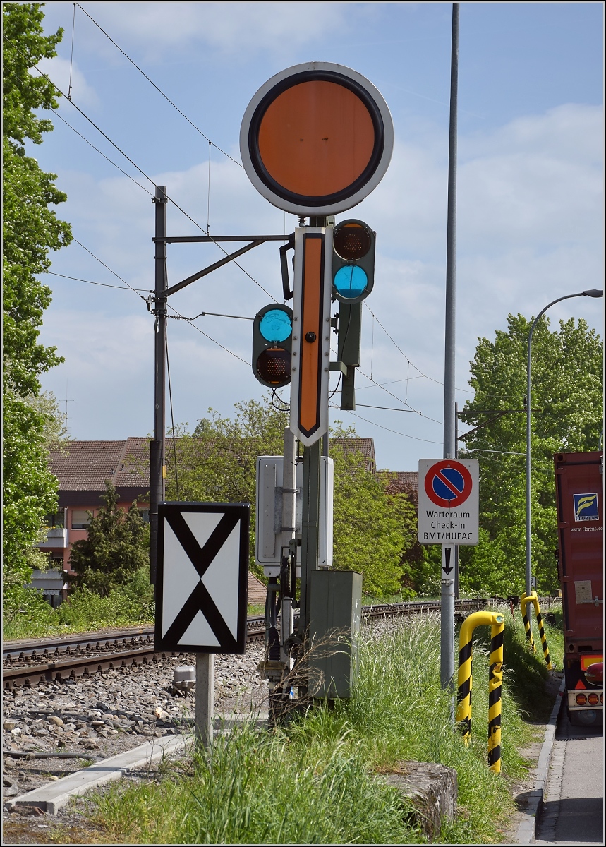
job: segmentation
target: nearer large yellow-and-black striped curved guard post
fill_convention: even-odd
[[[490,674],[488,678],[488,763],[501,771],[501,688],[503,684],[503,639],[505,619],[497,612],[474,612],[463,622],[459,637],[459,675],[456,720],[466,743],[471,734],[472,639],[476,627],[491,628]]]

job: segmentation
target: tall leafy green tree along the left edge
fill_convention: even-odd
[[[51,291],[36,279],[48,252],[69,244],[69,224],[49,208],[66,197],[55,174],[25,155],[52,130],[38,109],[57,107],[52,84],[31,71],[56,55],[63,30],[43,34],[42,3],[3,3],[3,567],[4,600],[28,581],[27,556],[48,512],[57,507],[57,479],[47,466],[47,418],[32,398],[39,377],[63,359],[38,343]]]

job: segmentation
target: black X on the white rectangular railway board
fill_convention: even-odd
[[[190,562],[196,568],[200,578],[204,576],[211,566],[213,559],[217,556],[218,551],[221,550],[226,540],[228,540],[240,517],[240,514],[236,512],[227,512],[224,514],[215,529],[213,529],[207,543],[201,547],[180,512],[170,512],[165,515],[166,520],[179,540],[179,544],[189,556]],[[223,649],[237,650],[236,639],[234,639],[227,623],[223,620],[221,612],[215,606],[212,596],[208,593],[207,588],[202,582],[196,585],[196,588],[185,601],[183,608],[168,627],[163,641],[179,644],[180,639],[183,638],[187,628],[198,612],[202,612],[204,617],[206,617],[212,632],[216,635]]]

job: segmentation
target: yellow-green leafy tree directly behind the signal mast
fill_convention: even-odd
[[[282,456],[287,412],[263,402],[236,403],[234,418],[208,410],[190,433],[188,424],[167,439],[167,499],[251,503],[251,569],[255,562],[256,457]],[[410,594],[405,552],[414,545],[416,525],[410,498],[388,495],[388,480],[364,468],[361,454],[342,451],[334,437],[352,438],[353,429],[331,433],[334,461],[333,556],[335,567],[359,571],[365,590],[383,597]],[[175,462],[176,457],[176,462]],[[175,473],[176,470],[176,473]]]

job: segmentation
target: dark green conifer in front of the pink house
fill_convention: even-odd
[[[109,480],[102,499],[105,506],[94,518],[91,515],[87,537],[72,545],[69,566],[75,575],[68,579],[78,588],[107,596],[114,586],[127,584],[140,568],[149,567],[149,528],[136,502],[128,512],[118,508]]]

